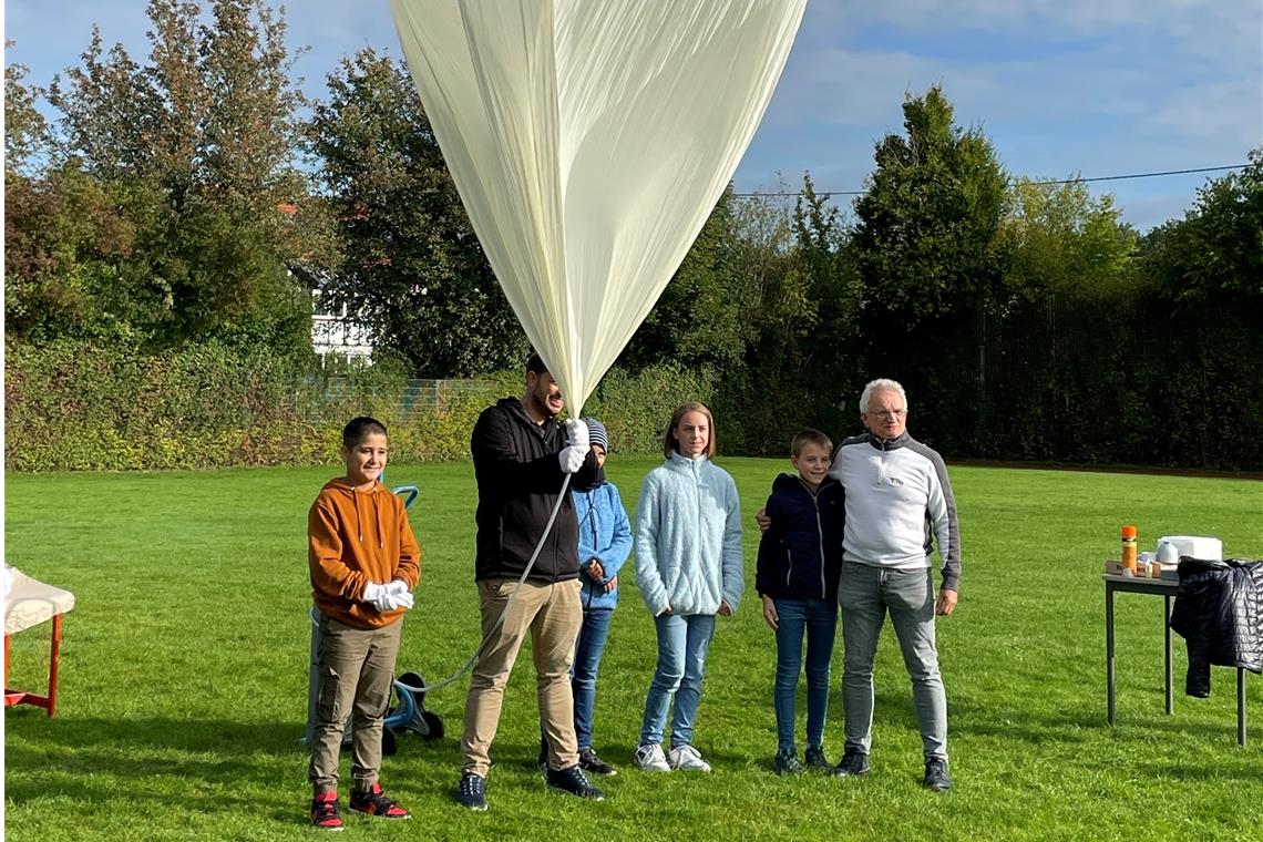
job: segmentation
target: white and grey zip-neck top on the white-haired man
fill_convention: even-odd
[[[846,490],[844,562],[925,568],[937,543],[942,587],[959,590],[956,499],[935,449],[907,433],[889,442],[871,433],[853,436],[837,446],[829,476]]]

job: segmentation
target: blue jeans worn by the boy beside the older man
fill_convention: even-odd
[[[793,751],[794,697],[807,635],[807,745],[822,746],[829,712],[829,665],[837,634],[837,605],[832,600],[773,600],[777,606],[777,747]]]

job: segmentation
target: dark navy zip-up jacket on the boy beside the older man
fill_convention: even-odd
[[[826,478],[812,494],[793,473],[772,482],[768,531],[759,540],[754,587],[773,600],[837,601],[845,492]]]

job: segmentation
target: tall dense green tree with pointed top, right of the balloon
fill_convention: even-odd
[[[907,323],[995,298],[1007,181],[981,129],[955,125],[941,87],[904,98],[903,126],[877,144],[854,241],[865,307]]]

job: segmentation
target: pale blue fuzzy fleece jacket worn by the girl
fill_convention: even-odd
[[[706,457],[678,453],[649,471],[635,524],[635,583],[649,614],[734,612],[745,591],[736,483]]]

